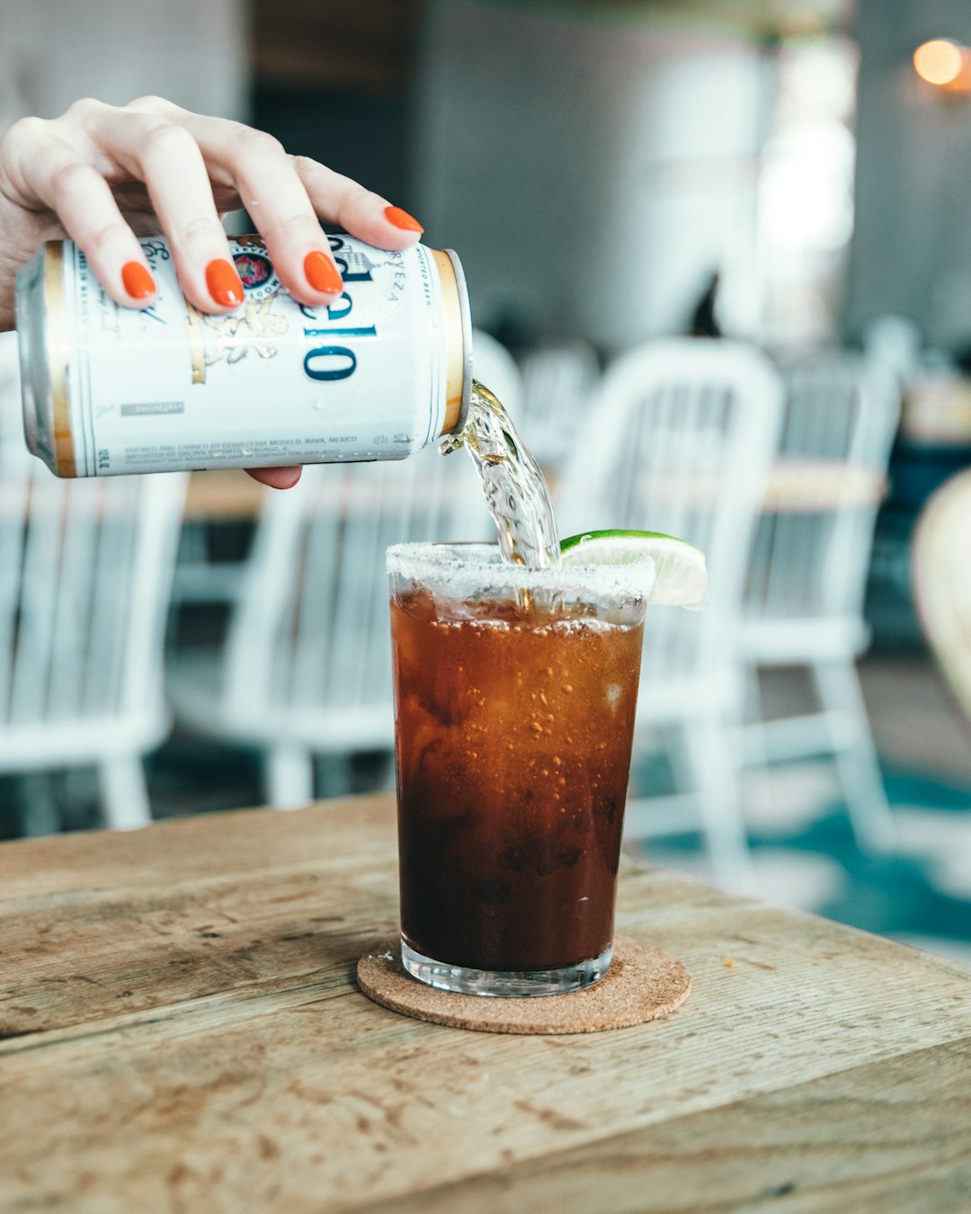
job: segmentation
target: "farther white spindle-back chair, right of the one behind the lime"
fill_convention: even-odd
[[[863,597],[886,488],[899,392],[884,364],[823,354],[783,368],[785,412],[745,591],[742,647],[756,720],[754,764],[831,754],[858,844],[892,846],[856,658],[869,645]],[[806,666],[819,710],[765,721],[757,670]]]

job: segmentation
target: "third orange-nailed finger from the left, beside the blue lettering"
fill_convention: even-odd
[[[229,176],[283,285],[302,304],[324,307],[343,290],[340,271],[293,159],[272,135],[218,118],[188,115],[210,172]]]

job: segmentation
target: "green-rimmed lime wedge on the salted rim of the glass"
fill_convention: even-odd
[[[657,572],[652,603],[704,607],[708,596],[705,554],[687,540],[658,532],[606,531],[570,535],[560,544],[563,565],[637,565],[652,561]]]

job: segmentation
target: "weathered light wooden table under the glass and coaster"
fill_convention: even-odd
[[[0,846],[0,1209],[971,1209],[971,972],[670,873],[668,1021],[496,1037],[369,1003],[387,799]]]

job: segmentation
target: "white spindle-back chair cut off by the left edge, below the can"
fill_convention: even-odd
[[[106,823],[143,826],[186,478],[58,481],[17,433],[7,342],[0,362],[0,772],[93,765]],[[44,816],[28,804],[27,832]]]

